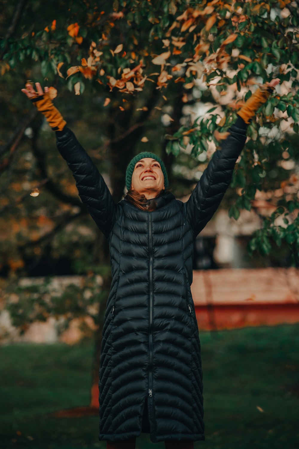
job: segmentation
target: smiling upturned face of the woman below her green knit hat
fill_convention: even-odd
[[[159,162],[152,158],[140,159],[134,167],[131,189],[140,195],[144,194],[147,199],[155,198],[165,189],[164,175]]]

